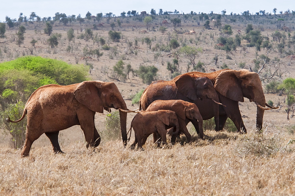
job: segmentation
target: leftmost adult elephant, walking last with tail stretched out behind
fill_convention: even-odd
[[[49,84],[41,86],[28,99],[21,121],[27,114],[27,133],[22,156],[28,156],[33,142],[43,133],[50,139],[53,151],[62,152],[58,143],[58,133],[74,125],[80,125],[84,132],[86,147],[96,147],[100,136],[94,126],[94,115],[110,108],[128,110],[121,93],[114,83],[84,81],[61,86]],[[122,140],[127,142],[127,113],[119,111]]]

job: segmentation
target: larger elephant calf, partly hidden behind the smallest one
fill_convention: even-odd
[[[198,107],[194,103],[190,103],[183,100],[156,100],[151,103],[146,111],[157,111],[157,110],[171,110],[176,113],[178,118],[180,131],[183,132],[186,136],[188,142],[191,141],[191,134],[186,128],[186,125],[189,122],[194,121],[199,125],[199,135],[203,139],[203,118],[199,112]],[[158,141],[156,134],[153,134],[154,142]],[[172,135],[171,143],[175,143],[176,134]],[[158,143],[159,144],[159,143]]]

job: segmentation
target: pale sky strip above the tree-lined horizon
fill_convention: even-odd
[[[163,11],[177,11],[190,13],[194,11],[209,13],[221,13],[222,10],[226,10],[226,14],[241,13],[243,11],[249,10],[250,13],[255,14],[259,10],[265,10],[266,12],[271,12],[273,14],[273,8],[277,8],[277,13],[279,11],[286,11],[287,9],[295,10],[295,1],[290,0],[0,0],[0,21],[5,21],[5,16],[11,19],[18,19],[19,13],[22,12],[28,18],[31,12],[35,12],[36,15],[43,17],[54,17],[56,12],[65,13],[66,15],[78,15],[81,14],[85,17],[87,11],[92,15],[97,13],[109,13],[112,12],[117,16],[120,15],[122,11],[132,11],[137,12],[146,11],[147,13],[153,8],[158,13],[159,9]]]

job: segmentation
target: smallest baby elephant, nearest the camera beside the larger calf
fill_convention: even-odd
[[[152,133],[158,133],[163,144],[165,144],[167,134],[166,129],[176,127],[175,134],[178,134],[179,132],[176,113],[170,110],[141,111],[134,116],[131,122],[129,129],[130,135],[132,127],[135,134],[135,141],[130,146],[132,149],[134,149],[136,144],[137,149],[142,149],[142,145],[145,144],[148,136]]]

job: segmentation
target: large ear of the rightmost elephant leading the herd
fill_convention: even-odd
[[[214,88],[223,96],[234,101],[244,102],[242,86],[237,70],[222,71],[216,78]]]

